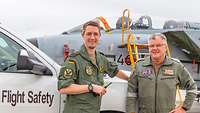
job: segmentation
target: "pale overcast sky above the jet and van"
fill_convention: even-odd
[[[167,20],[200,22],[199,0],[0,0],[0,23],[25,38],[60,34],[98,16],[115,27],[124,9],[133,21],[152,18],[153,27]]]

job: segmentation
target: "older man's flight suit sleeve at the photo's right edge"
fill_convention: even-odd
[[[190,75],[190,73],[188,72],[188,70],[183,65],[181,65],[179,79],[180,79],[180,88],[186,89],[186,96],[185,96],[185,101],[183,103],[183,107],[189,110],[197,95],[197,85],[193,80],[192,76]]]

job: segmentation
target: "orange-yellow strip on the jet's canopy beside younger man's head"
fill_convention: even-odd
[[[103,24],[103,29],[106,33],[111,33],[111,27],[103,16],[97,17],[97,19]]]

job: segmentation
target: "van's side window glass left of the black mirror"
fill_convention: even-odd
[[[0,32],[0,72],[16,72],[17,56],[23,49],[15,41]]]

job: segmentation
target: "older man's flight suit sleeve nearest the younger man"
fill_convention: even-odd
[[[136,113],[137,92],[138,92],[138,77],[135,70],[131,74],[128,80],[126,113]]]

